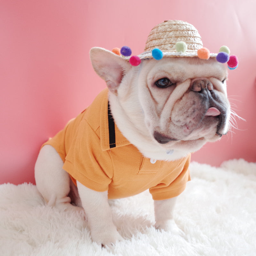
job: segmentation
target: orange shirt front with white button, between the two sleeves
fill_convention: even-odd
[[[109,154],[113,164],[113,177],[108,186],[110,199],[133,196],[161,183],[168,186],[180,175],[185,163],[185,159],[151,163],[133,145],[112,148]]]

